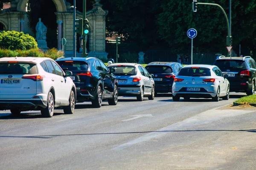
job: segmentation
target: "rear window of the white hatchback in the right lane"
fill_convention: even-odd
[[[209,68],[181,68],[178,76],[200,77],[211,76]]]

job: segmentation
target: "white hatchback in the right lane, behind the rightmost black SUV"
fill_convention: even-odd
[[[172,99],[179,101],[190,98],[212,98],[218,102],[222,97],[229,99],[230,84],[227,74],[222,74],[215,65],[185,65],[175,77]]]

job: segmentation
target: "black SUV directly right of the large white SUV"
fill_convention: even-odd
[[[100,108],[102,101],[108,99],[109,105],[116,105],[118,100],[118,82],[98,58],[74,57],[58,58],[56,62],[65,71],[72,71],[71,78],[76,85],[77,102],[91,101],[93,107]]]

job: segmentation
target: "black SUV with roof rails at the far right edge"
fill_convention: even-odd
[[[246,57],[219,57],[214,65],[227,74],[230,82],[230,91],[254,94],[256,78],[256,62],[250,56]]]

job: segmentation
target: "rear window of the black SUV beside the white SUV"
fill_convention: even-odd
[[[76,70],[87,70],[88,69],[88,63],[84,61],[56,61],[58,65],[61,66],[61,68],[69,71],[76,71]]]

